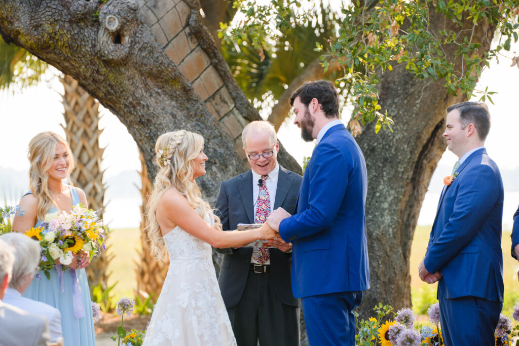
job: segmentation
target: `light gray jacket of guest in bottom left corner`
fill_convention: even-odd
[[[47,318],[32,314],[0,300],[0,346],[47,346]]]

